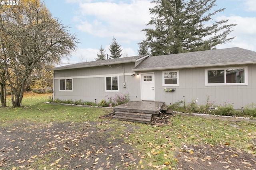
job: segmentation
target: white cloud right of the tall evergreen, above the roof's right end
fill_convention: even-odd
[[[221,19],[228,19],[228,23],[236,23],[237,25],[232,28],[234,31],[230,33],[230,37],[235,36],[232,42],[218,45],[218,49],[228,47],[240,47],[256,51],[256,17],[249,18],[241,16],[222,16],[221,18],[218,18],[218,20]]]

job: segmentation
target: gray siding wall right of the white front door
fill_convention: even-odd
[[[170,105],[170,103],[174,104],[184,99],[186,104],[189,104],[192,100],[197,98],[198,105],[205,105],[207,96],[210,96],[210,101],[214,101],[218,104],[224,104],[225,102],[233,103],[235,109],[241,109],[241,107],[252,103],[256,104],[255,64],[248,65],[248,86],[205,86],[205,68],[187,68],[179,69],[180,86],[166,87],[162,86],[162,71],[168,70],[155,71],[155,100],[163,101],[166,105]],[[164,87],[175,88],[176,91],[166,93]]]

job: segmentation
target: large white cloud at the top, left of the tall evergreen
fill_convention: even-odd
[[[76,27],[96,37],[114,36],[125,43],[141,41],[144,38],[141,30],[150,20],[150,6],[149,0],[132,0],[130,4],[81,3],[80,23]]]

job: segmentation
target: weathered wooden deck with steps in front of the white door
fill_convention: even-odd
[[[150,123],[152,115],[158,115],[164,102],[138,101],[128,102],[114,107],[113,118],[123,121]]]

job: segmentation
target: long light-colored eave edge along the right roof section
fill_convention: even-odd
[[[155,68],[138,68],[132,69],[134,72],[138,71],[152,71],[152,70],[170,70],[170,69],[179,69],[179,68],[199,68],[199,67],[212,67],[212,66],[228,66],[228,65],[243,65],[243,64],[256,64],[256,61],[248,62],[239,62],[239,63],[221,63],[221,64],[204,64],[204,65],[186,65],[186,66],[168,66],[168,67],[155,67]]]

